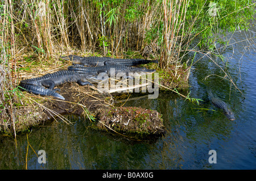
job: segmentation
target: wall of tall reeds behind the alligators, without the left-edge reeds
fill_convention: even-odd
[[[7,1],[2,3],[7,7]],[[26,0],[10,8],[15,39],[41,56],[76,47],[84,54],[123,57],[127,52],[143,54],[149,47],[161,68],[178,62],[174,55],[179,57],[195,37],[200,37],[200,47],[213,48],[220,30],[247,28],[254,13],[253,3],[245,0]]]

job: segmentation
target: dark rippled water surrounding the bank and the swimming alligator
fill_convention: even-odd
[[[191,98],[207,100],[199,82],[206,83],[228,103],[235,121],[226,119],[207,101],[197,105],[172,92],[160,92],[158,99],[142,97],[125,104],[162,113],[167,133],[154,142],[93,131],[88,121],[69,116],[72,125],[55,121],[34,128],[30,134],[18,136],[16,144],[11,137],[1,137],[0,169],[256,169],[255,32],[253,27],[232,36],[232,46],[223,54],[224,64],[213,58],[242,93],[217,77],[225,74],[199,54],[196,58],[201,60],[189,78]],[[204,81],[211,74],[216,75]],[[38,163],[39,150],[46,151],[45,164]],[[217,163],[209,163],[210,150],[216,151]]]

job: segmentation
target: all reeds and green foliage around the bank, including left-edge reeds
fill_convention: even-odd
[[[249,27],[253,2],[2,0],[0,131],[15,133],[20,77],[64,66],[57,55],[158,58],[158,71],[179,79],[186,52],[214,53],[227,32]]]

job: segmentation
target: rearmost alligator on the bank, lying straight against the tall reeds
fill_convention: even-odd
[[[141,64],[148,64],[150,62],[158,63],[158,60],[144,60],[140,58],[122,59],[110,57],[80,57],[70,54],[69,56],[60,56],[64,60],[71,60],[73,64],[81,64],[84,66],[104,66],[104,65],[125,65],[135,66]]]

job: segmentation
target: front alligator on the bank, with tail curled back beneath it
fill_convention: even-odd
[[[59,86],[65,82],[77,82],[79,85],[84,86],[92,85],[92,83],[100,83],[106,80],[107,79],[102,78],[98,79],[97,77],[93,77],[86,73],[60,70],[52,74],[43,75],[42,77],[22,80],[19,83],[19,87],[22,91],[28,91],[36,95],[51,95],[65,100],[62,95],[55,92],[59,90],[53,89],[55,86]],[[45,89],[45,87],[48,87],[48,89]]]

